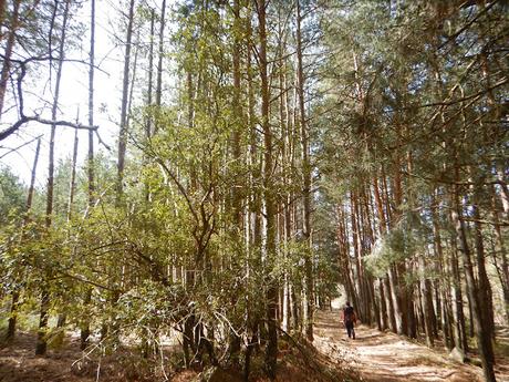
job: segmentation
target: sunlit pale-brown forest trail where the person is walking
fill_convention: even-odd
[[[442,348],[429,349],[397,334],[360,326],[356,339],[350,340],[340,323],[337,309],[319,311],[313,344],[333,359],[344,359],[344,365],[357,372],[366,382],[477,382],[482,370],[461,364]],[[508,359],[497,365],[497,381],[509,382]]]

